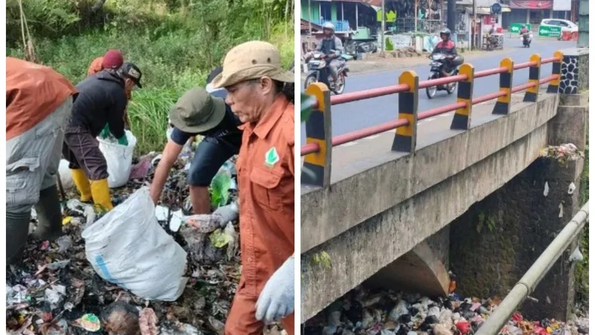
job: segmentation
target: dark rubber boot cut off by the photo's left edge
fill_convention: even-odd
[[[6,212],[6,262],[16,264],[21,262],[27,235],[29,235],[29,222],[31,211],[25,213]]]

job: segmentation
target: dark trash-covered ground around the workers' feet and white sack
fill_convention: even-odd
[[[64,235],[52,242],[30,239],[21,265],[7,266],[7,334],[223,334],[240,277],[238,222],[227,222],[224,228],[212,225],[195,229],[192,220],[211,215],[187,216],[190,207],[186,172],[190,157],[192,153],[181,155],[165,185],[162,203],[155,210],[158,224],[186,252],[183,277],[187,281],[179,299],[145,300],[124,289],[126,285],[102,279],[104,274],[100,276],[93,266],[114,268],[114,264],[106,261],[92,266],[82,233],[93,224],[108,221],[109,213],[75,200],[76,190],[71,189],[70,200],[62,206]],[[148,185],[159,158],[151,153],[133,160],[127,184],[112,189],[114,206]],[[212,190],[218,192],[214,207],[237,198],[234,174],[231,160],[217,176],[215,188],[219,188]],[[35,229],[36,222],[35,212],[32,215],[30,230]],[[146,240],[134,243],[142,245]],[[265,333],[276,334],[275,327]]]

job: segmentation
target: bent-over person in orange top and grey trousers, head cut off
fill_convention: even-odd
[[[55,174],[76,88],[49,67],[6,57],[6,261],[23,255],[31,208],[36,238],[62,235]]]

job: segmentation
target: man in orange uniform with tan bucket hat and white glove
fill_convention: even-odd
[[[212,82],[227,89],[226,103],[244,123],[237,158],[242,275],[226,335],[261,335],[265,322],[277,320],[294,334],[295,125],[283,94],[293,78],[275,46],[252,41],[227,53]]]

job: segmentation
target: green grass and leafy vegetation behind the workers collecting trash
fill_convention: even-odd
[[[293,61],[292,0],[8,0],[7,56],[51,66],[75,85],[93,59],[120,49],[143,88],[128,107],[137,153],[162,149],[167,113],[233,46],[269,41]],[[23,24],[23,29],[21,29]]]

